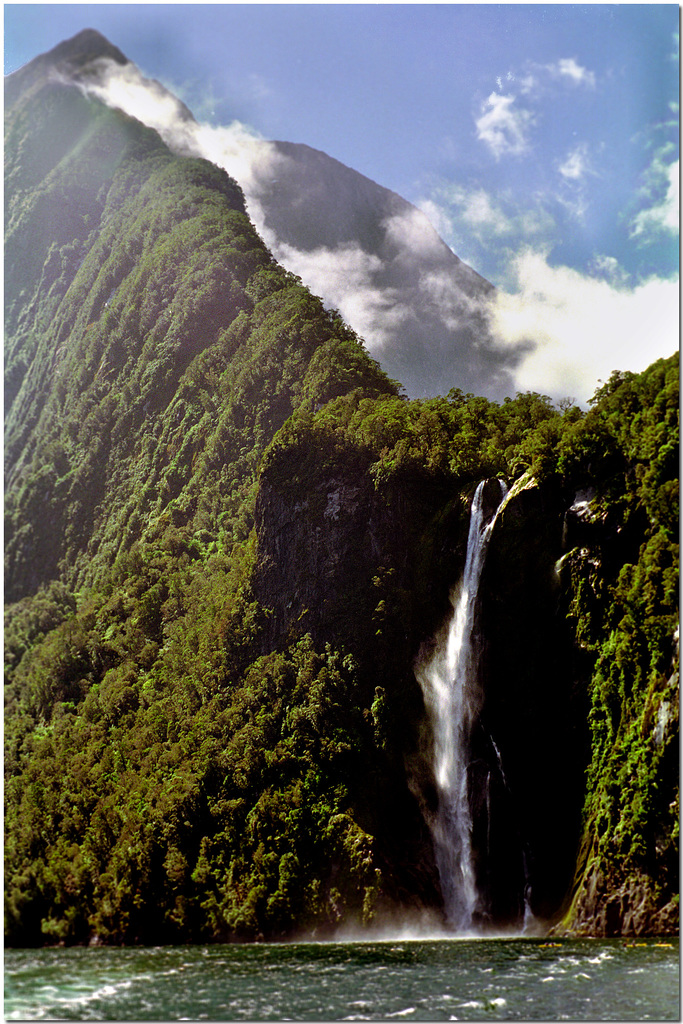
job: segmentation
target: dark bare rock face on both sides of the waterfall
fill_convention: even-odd
[[[293,459],[292,471],[295,466]],[[446,595],[462,570],[471,495],[463,493],[455,503],[440,496],[444,514],[432,557],[426,558],[421,545],[435,496],[429,501],[420,495],[421,518],[417,487],[380,496],[357,466],[346,478],[322,468],[312,487],[310,478],[303,486],[302,476],[292,475],[291,495],[282,483],[288,479],[283,467],[276,475],[280,485],[274,467],[264,474],[256,516],[257,594],[271,609],[271,628],[310,630],[333,643],[354,638],[396,720],[405,721],[410,701],[408,721],[415,724],[401,736],[412,752],[408,781],[428,812],[435,797],[426,715],[415,679],[400,667],[412,665],[436,632],[435,610],[440,607],[445,616],[437,594]],[[305,501],[295,501],[295,494],[305,494]],[[562,614],[555,571],[562,532],[562,495],[525,480],[513,489],[494,529],[482,578],[484,696],[470,784],[476,871],[485,894],[482,924],[495,927],[521,927],[529,911],[544,922],[555,918],[580,842],[590,670]],[[403,601],[403,628],[392,650],[373,647],[376,616],[397,610],[386,608],[377,586],[387,570],[393,599],[400,594]],[[429,607],[431,614],[425,614]]]

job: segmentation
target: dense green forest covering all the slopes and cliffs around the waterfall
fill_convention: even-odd
[[[69,81],[101,55],[6,85],[6,941],[437,921],[414,670],[490,476],[483,714],[531,910],[677,930],[677,356],[588,411],[457,367],[408,400],[234,181]]]

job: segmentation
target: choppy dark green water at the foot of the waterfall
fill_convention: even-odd
[[[678,1020],[677,940],[8,949],[5,1018]]]

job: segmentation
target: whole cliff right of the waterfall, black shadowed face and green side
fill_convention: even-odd
[[[677,367],[614,374],[492,539],[483,716],[559,932],[678,929]]]

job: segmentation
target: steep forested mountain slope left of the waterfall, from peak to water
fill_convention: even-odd
[[[378,774],[377,680],[296,634],[268,643],[249,582],[279,427],[397,388],[274,263],[223,171],[52,71],[7,109],[10,941],[253,937],[434,903],[400,765]]]

